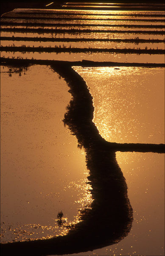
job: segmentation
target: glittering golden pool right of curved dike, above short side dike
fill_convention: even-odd
[[[116,143],[164,142],[164,69],[74,69],[89,86],[101,136]]]

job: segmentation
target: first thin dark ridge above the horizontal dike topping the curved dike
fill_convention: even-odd
[[[110,53],[135,53],[135,54],[165,54],[164,49],[103,49],[103,48],[60,48],[60,47],[8,47],[1,46],[1,51],[6,52],[110,52]]]

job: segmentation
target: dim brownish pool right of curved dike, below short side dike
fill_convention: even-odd
[[[164,154],[117,152],[134,209],[129,235],[117,244],[73,256],[159,255],[165,253]]]

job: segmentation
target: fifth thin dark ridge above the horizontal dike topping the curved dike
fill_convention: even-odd
[[[58,15],[58,14],[57,14]],[[75,16],[75,15],[74,15]],[[93,15],[91,15],[93,16]],[[14,15],[3,15],[2,19],[28,19],[28,20],[105,20],[105,18],[80,18],[80,17],[29,17],[29,16],[14,16]],[[107,18],[106,20],[124,20],[124,21],[151,21],[151,22],[165,22],[165,19],[111,19]]]

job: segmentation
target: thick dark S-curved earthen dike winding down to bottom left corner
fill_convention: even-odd
[[[94,107],[87,84],[68,63],[60,62],[51,67],[64,77],[73,96],[63,122],[86,152],[88,183],[92,186],[94,201],[80,212],[82,221],[66,236],[1,244],[1,255],[80,253],[115,244],[131,229],[133,211],[126,181],[117,164],[115,150],[104,148],[106,141],[92,122]]]

